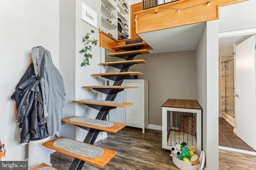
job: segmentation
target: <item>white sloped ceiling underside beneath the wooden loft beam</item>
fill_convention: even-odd
[[[205,22],[173,27],[146,33],[140,37],[153,50],[150,54],[195,50],[204,30]]]

